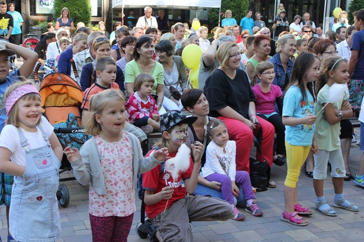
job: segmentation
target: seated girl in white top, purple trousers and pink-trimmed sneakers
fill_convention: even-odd
[[[231,204],[235,214],[235,220],[242,220],[245,215],[233,205],[233,196],[239,195],[236,183],[241,185],[247,207],[245,211],[254,216],[263,215],[262,210],[255,204],[255,195],[251,189],[251,182],[248,172],[236,171],[235,141],[229,140],[228,129],[225,123],[219,119],[211,120],[206,126],[207,134],[211,142],[206,149],[206,163],[201,168],[200,176],[209,181],[221,183],[221,192],[228,203]]]

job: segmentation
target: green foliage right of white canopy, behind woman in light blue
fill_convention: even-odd
[[[240,20],[247,16],[247,10],[249,8],[248,0],[221,0],[221,12],[225,14],[226,10],[230,9],[232,11],[232,18],[235,18],[237,24]],[[213,26],[218,25],[219,19],[219,9],[209,8],[209,20]],[[220,26],[221,21],[224,19],[222,15],[220,16]]]

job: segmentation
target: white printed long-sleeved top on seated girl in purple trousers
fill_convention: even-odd
[[[206,163],[201,168],[200,176],[207,177],[214,173],[228,175],[232,180],[235,180],[236,175],[236,143],[229,140],[224,148],[216,145],[211,141],[206,148]]]

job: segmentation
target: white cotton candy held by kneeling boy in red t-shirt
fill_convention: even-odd
[[[182,144],[177,155],[165,161],[165,170],[171,174],[173,180],[178,178],[180,172],[185,172],[190,167],[190,153],[190,148]]]

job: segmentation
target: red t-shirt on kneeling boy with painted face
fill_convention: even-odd
[[[155,150],[151,150],[147,156],[149,156],[152,152]],[[176,153],[169,153],[170,157],[175,157]],[[184,187],[182,187],[182,180],[187,180],[191,177],[192,170],[193,170],[193,161],[190,157],[190,167],[187,169],[187,171],[183,172],[182,174],[179,174],[179,177],[176,179],[176,181],[173,181],[173,178],[170,173],[166,172],[165,169],[162,172],[161,175],[161,164],[157,165],[154,169],[150,170],[147,173],[143,174],[143,189],[146,190],[152,190],[154,191],[154,194],[159,193],[162,191],[162,188],[166,186],[174,186],[174,192],[172,197],[168,201],[167,208],[171,207],[175,201],[183,198],[186,196],[187,192]],[[167,200],[162,199],[158,203],[151,204],[151,205],[145,205],[145,211],[147,213],[148,218],[153,219],[155,216],[160,214],[165,210],[165,204]]]

